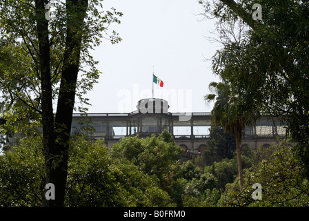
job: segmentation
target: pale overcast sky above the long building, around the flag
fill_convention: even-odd
[[[152,97],[152,71],[164,83],[154,85],[155,97],[168,100],[170,112],[209,112],[203,95],[209,93],[210,59],[219,44],[205,37],[214,21],[201,21],[197,0],[105,0],[103,5],[123,12],[120,25],[110,29],[123,39],[103,41],[92,55],[103,73],[87,95],[88,113],[129,113],[139,99]]]

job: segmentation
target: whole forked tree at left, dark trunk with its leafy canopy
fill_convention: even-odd
[[[0,58],[4,67],[1,112],[8,122],[3,126],[4,133],[16,122],[18,126],[23,122],[41,124],[46,183],[57,189],[55,200],[45,200],[44,206],[63,206],[75,97],[87,102],[83,95],[99,77],[97,62],[89,50],[100,44],[102,32],[110,23],[119,23],[117,17],[122,14],[114,9],[105,14],[99,12],[102,4],[97,0],[66,0],[54,3],[55,18],[49,21],[48,3],[0,1],[0,7],[6,9],[0,12]],[[114,44],[119,40],[113,32],[110,41]],[[79,80],[81,71],[83,78]]]

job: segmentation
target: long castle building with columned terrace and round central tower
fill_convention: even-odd
[[[141,99],[131,113],[74,113],[71,132],[84,133],[92,140],[104,139],[107,146],[112,146],[122,137],[159,135],[166,129],[186,153],[199,155],[206,150],[212,125],[210,113],[170,113],[168,108],[166,100],[148,98]],[[262,116],[243,131],[241,148],[270,146],[285,133],[286,126],[279,119]]]

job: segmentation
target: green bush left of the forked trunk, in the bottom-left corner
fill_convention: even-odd
[[[45,184],[41,137],[0,155],[0,206],[40,206]]]

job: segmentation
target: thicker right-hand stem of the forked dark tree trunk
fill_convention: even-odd
[[[55,204],[64,206],[66,195],[66,180],[68,175],[69,140],[79,73],[81,53],[81,33],[83,19],[86,16],[88,1],[66,1],[67,30],[66,49],[63,59],[57,112],[54,119],[54,149],[57,165],[54,173]],[[78,16],[77,16],[78,15]]]

